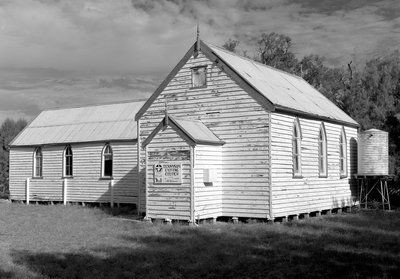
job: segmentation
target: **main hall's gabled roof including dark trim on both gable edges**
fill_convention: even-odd
[[[201,51],[246,92],[271,111],[290,112],[350,126],[359,126],[350,116],[301,77],[241,57],[201,41]],[[194,53],[194,45],[139,110],[139,119]]]

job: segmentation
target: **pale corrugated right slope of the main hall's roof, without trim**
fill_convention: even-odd
[[[301,77],[277,70],[232,52],[205,43],[214,54],[276,108],[358,125],[350,116]]]

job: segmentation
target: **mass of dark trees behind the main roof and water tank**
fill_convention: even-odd
[[[233,40],[225,48],[235,51]],[[263,33],[256,42],[263,64],[294,73],[314,86],[360,125],[389,132],[390,162],[400,181],[400,51],[366,61],[361,69],[350,61],[339,67],[327,67],[325,58],[311,54],[300,62],[292,52],[290,37]],[[356,70],[361,69],[361,70]],[[399,190],[400,192],[400,190]],[[399,200],[400,200],[400,193]]]

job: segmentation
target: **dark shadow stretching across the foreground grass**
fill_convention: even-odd
[[[121,236],[129,244],[123,247],[12,256],[50,278],[397,278],[399,234],[384,234],[357,215],[287,225],[160,226]],[[349,226],[352,218],[358,227]],[[363,233],[371,227],[374,233]]]

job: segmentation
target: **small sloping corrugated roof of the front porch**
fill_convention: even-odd
[[[171,116],[170,119],[175,122],[184,133],[192,138],[195,143],[224,143],[199,120],[183,120]]]

